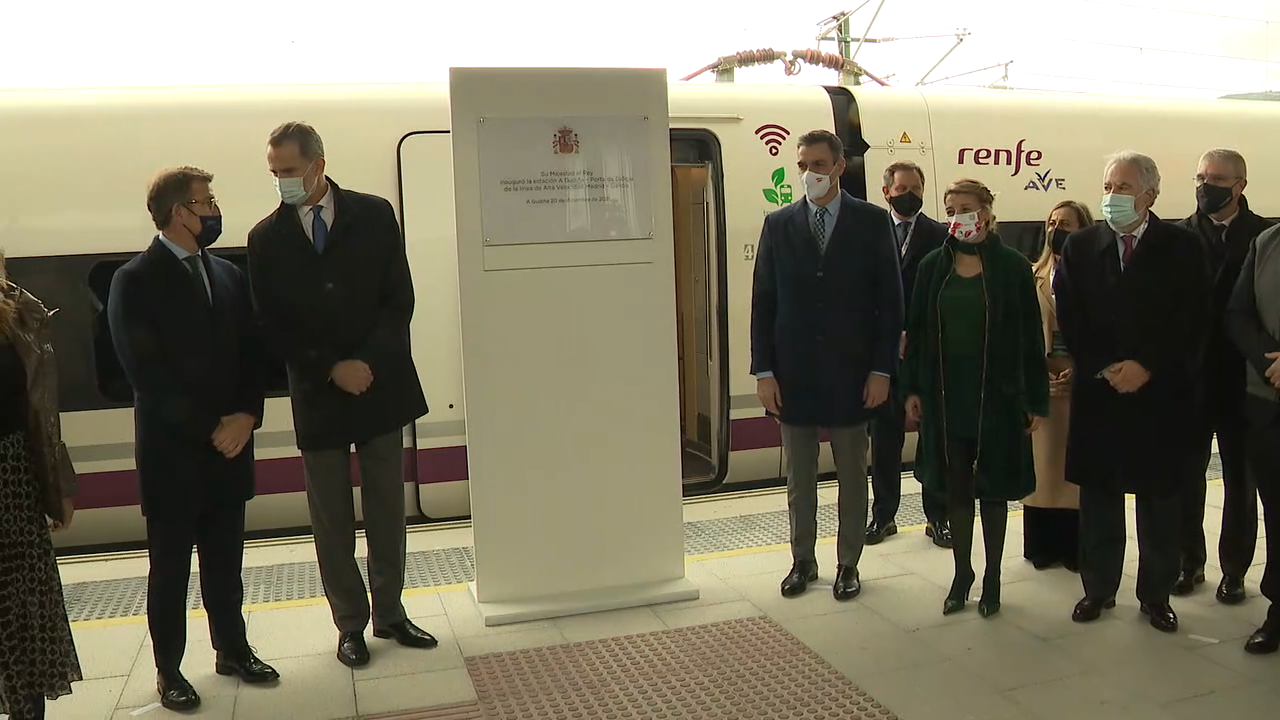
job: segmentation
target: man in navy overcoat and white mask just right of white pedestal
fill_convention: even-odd
[[[845,152],[827,131],[805,133],[805,199],[764,219],[751,291],[751,374],[782,425],[794,565],[783,597],[818,579],[819,429],[840,474],[832,592],[861,592],[867,423],[883,410],[902,337],[902,279],[888,213],[840,188]]]

